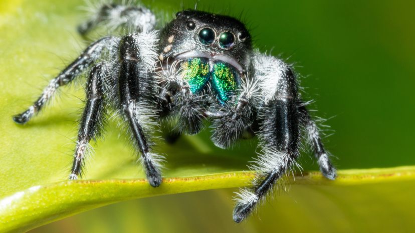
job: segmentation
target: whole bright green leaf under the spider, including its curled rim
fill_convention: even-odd
[[[167,2],[156,7],[168,8]],[[11,116],[29,106],[40,88],[85,47],[75,31],[82,20],[80,5],[80,0],[0,2],[0,231],[28,230],[122,200],[249,183],[254,174],[244,170],[255,156],[256,141],[222,150],[204,131],[183,136],[175,145],[159,143],[157,149],[168,162],[162,185],[152,188],[113,121],[105,138],[92,143],[95,153],[88,158],[84,180],[67,180],[82,107],[80,85],[63,88],[54,104],[27,125],[16,125]],[[328,181],[319,172],[303,172],[290,182],[337,187],[413,180],[414,174],[411,166],[340,170],[336,181]]]

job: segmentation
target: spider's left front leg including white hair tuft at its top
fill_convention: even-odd
[[[160,155],[151,152],[149,130],[146,126],[151,119],[151,98],[156,83],[148,72],[154,70],[157,41],[155,33],[134,33],[120,42],[119,95],[133,140],[141,153],[148,182],[153,187],[161,183]],[[149,100],[149,101],[148,101]],[[147,103],[148,102],[148,103]]]

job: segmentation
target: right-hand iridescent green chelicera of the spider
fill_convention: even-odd
[[[212,83],[219,100],[222,103],[227,102],[238,88],[235,68],[226,62],[215,63]]]

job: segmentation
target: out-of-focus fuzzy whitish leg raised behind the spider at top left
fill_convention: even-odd
[[[135,32],[150,31],[156,24],[155,15],[144,6],[133,4],[104,3],[91,6],[91,18],[78,26],[78,32],[85,36],[98,25],[115,30],[120,26],[131,26]]]

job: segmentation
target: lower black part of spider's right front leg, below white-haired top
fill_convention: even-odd
[[[258,176],[254,188],[243,189],[237,197],[234,220],[241,222],[266,196],[274,184],[296,163],[299,155],[299,113],[292,98],[278,98],[266,106],[260,137],[262,155],[254,169]]]

